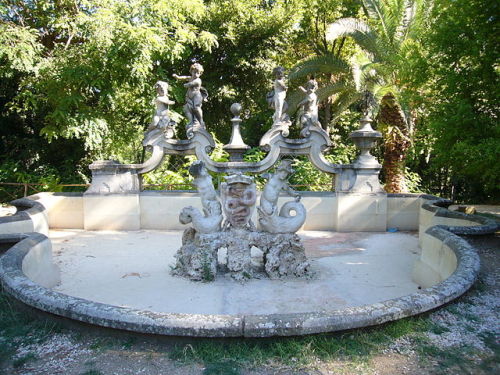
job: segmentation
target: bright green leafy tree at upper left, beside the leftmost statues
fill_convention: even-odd
[[[217,45],[196,26],[206,11],[201,0],[3,4],[0,70],[20,75],[10,109],[40,116],[49,140],[82,139],[94,157],[136,161],[161,62]]]

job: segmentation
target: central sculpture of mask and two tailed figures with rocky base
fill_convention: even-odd
[[[176,254],[173,273],[192,280],[213,280],[220,266],[218,250],[227,249],[224,272],[237,280],[260,277],[306,276],[309,263],[297,232],[306,220],[306,209],[300,196],[278,209],[282,190],[289,191],[287,177],[293,170],[283,161],[269,178],[260,197],[259,229],[251,221],[257,201],[252,177],[241,173],[226,177],[220,186],[220,201],[202,161],[195,162],[190,172],[194,177],[203,205],[203,213],[192,206],[179,216],[184,231],[182,247]],[[295,215],[291,215],[295,212]],[[263,251],[263,273],[252,264],[251,249]]]

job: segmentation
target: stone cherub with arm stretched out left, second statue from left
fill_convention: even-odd
[[[173,77],[179,81],[188,81],[184,84],[184,87],[187,87],[184,113],[189,120],[187,125],[188,130],[192,129],[194,126],[205,127],[201,106],[208,98],[207,90],[201,86],[200,77],[203,74],[203,66],[199,63],[194,63],[189,68],[189,72],[191,73],[190,76],[173,75]]]

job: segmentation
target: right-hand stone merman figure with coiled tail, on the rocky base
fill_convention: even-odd
[[[300,195],[288,184],[288,176],[294,171],[290,160],[283,160],[270,175],[260,197],[259,213],[260,227],[270,233],[295,233],[306,220],[306,210],[300,203]],[[281,191],[286,191],[295,201],[287,202],[278,212],[278,198]],[[295,212],[295,216],[291,212]]]

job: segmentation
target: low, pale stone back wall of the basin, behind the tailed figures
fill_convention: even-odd
[[[308,212],[303,230],[376,232],[385,231],[387,228],[405,231],[416,231],[419,228],[419,194],[386,196],[304,192],[302,197],[302,203]],[[199,196],[195,192],[144,191],[140,194],[95,195],[39,193],[28,198],[18,201],[36,206],[37,212],[24,209],[10,219],[1,218],[4,224],[0,226],[0,233],[46,233],[49,227],[86,230],[182,230],[186,228],[178,220],[182,208],[193,206],[201,209]],[[282,196],[278,204],[282,205],[290,199]],[[256,213],[252,220],[257,221]],[[37,229],[33,228],[32,224],[35,224]]]

